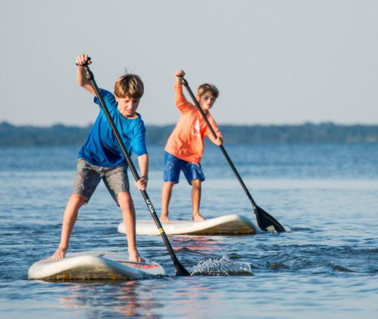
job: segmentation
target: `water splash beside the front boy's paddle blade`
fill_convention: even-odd
[[[252,276],[250,264],[243,261],[233,261],[228,256],[210,258],[200,261],[194,266],[191,275],[199,276]]]

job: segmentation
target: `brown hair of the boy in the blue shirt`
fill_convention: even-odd
[[[143,81],[138,75],[122,75],[115,81],[114,94],[116,97],[130,97],[131,99],[141,99],[144,92]]]

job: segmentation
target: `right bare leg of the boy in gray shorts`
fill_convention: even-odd
[[[132,198],[128,192],[118,193],[118,203],[122,209],[123,225],[126,229],[128,240],[128,255],[130,261],[144,261],[137,250],[137,240],[135,235],[135,208]]]

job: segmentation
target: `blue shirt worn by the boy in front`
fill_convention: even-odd
[[[145,126],[141,115],[137,113],[138,117],[132,119],[122,116],[117,108],[118,103],[115,96],[107,90],[100,89],[100,91],[128,154],[131,155],[132,152],[138,156],[147,154]],[[94,102],[99,105],[97,97]],[[127,164],[102,107],[99,109],[99,115],[86,142],[79,151],[79,157],[97,166],[115,167]]]

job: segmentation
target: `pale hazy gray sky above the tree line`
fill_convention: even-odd
[[[377,0],[2,0],[0,21],[0,122],[93,123],[88,53],[99,87],[142,77],[146,124],[178,119],[178,68],[219,88],[217,123],[378,123]]]

